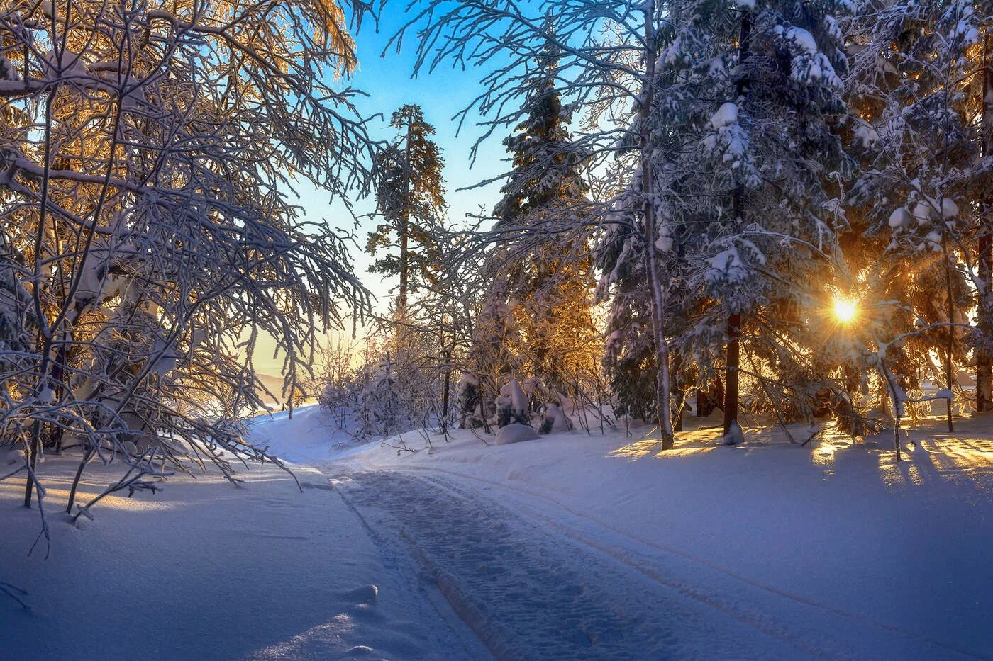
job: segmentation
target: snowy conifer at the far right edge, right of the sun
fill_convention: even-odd
[[[929,376],[950,390],[971,344],[979,409],[990,401],[993,312],[985,295],[987,12],[981,3],[866,2],[853,29],[850,93],[857,114],[849,120],[852,148],[863,162],[851,203],[861,233],[877,246],[857,268],[901,304],[894,332],[931,329],[908,336],[895,371],[908,387]],[[978,295],[972,301],[970,284]],[[970,308],[987,331],[964,331]],[[950,430],[950,399],[947,417]]]

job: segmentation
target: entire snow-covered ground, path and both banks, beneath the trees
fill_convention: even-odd
[[[0,483],[0,640],[19,658],[993,658],[993,418],[814,447],[778,430],[358,447],[259,420],[293,462],[111,496],[95,521]],[[805,437],[803,437],[805,438]],[[489,442],[489,443],[487,443]],[[403,448],[403,449],[400,449]],[[49,458],[51,511],[71,458]],[[111,466],[116,467],[116,466]],[[87,478],[96,492],[109,475]],[[101,482],[100,477],[103,477]],[[373,588],[375,586],[375,588]]]

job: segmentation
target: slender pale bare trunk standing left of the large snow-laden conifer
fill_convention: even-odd
[[[670,450],[675,443],[672,432],[671,393],[669,392],[669,345],[665,338],[665,288],[658,273],[655,254],[655,205],[652,199],[654,184],[651,172],[651,140],[648,120],[651,116],[655,78],[655,2],[648,0],[644,12],[644,87],[638,110],[638,147],[641,165],[641,194],[644,204],[645,266],[651,291],[651,321],[655,340],[655,412],[662,437],[662,450]]]

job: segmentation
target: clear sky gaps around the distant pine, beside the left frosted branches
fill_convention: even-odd
[[[498,183],[469,191],[459,189],[474,186],[506,171],[507,164],[503,159],[507,155],[501,140],[507,131],[495,132],[480,148],[476,163],[470,167],[470,150],[484,129],[475,125],[479,118],[473,115],[457,136],[458,126],[452,118],[479,95],[482,89],[479,83],[481,73],[458,70],[446,65],[430,74],[422,72],[418,78],[412,78],[416,49],[412,36],[404,40],[404,48],[399,55],[391,47],[385,58],[381,58],[380,54],[390,36],[406,20],[406,15],[400,9],[384,9],[378,30],[372,22],[364,21],[355,34],[358,70],[352,79],[342,80],[337,84],[353,86],[368,94],[367,97],[357,99],[356,105],[365,116],[381,113],[381,117],[372,119],[369,124],[374,138],[394,137],[394,130],[388,126],[389,117],[401,105],[416,103],[421,106],[425,119],[437,130],[435,139],[445,160],[446,199],[450,206],[448,220],[451,225],[458,226],[465,221],[467,214],[481,212],[481,206],[489,210],[497,202],[500,187]],[[327,193],[316,191],[306,183],[298,182],[295,188],[299,194],[295,203],[303,207],[308,219],[326,219],[336,228],[355,227],[352,215],[341,201],[332,201]],[[353,203],[359,214],[368,213],[373,207],[372,200],[368,198],[353,199]],[[355,228],[356,245],[351,246],[350,252],[355,274],[375,297],[375,308],[383,311],[389,305],[393,295],[391,290],[396,283],[394,278],[368,272],[374,258],[363,249],[366,234],[375,222],[374,219],[364,218]],[[349,324],[344,332],[351,336],[351,323]],[[333,333],[329,333],[329,339],[332,335]],[[260,339],[255,351],[255,367],[260,373],[280,373],[284,358],[274,355],[274,350],[275,342],[271,337]]]

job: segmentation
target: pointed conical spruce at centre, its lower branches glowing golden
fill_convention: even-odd
[[[521,108],[524,118],[503,141],[512,169],[494,209],[494,273],[475,352],[492,378],[522,369],[553,398],[588,368],[598,334],[582,218],[589,190],[581,172],[585,155],[569,138],[572,111],[555,85],[558,57],[546,42]]]

